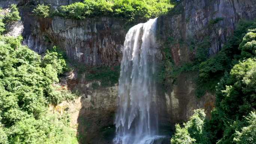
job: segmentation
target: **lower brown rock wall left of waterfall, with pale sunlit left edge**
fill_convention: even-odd
[[[76,105],[68,104],[80,143],[112,143],[115,136],[113,121],[117,107],[118,86],[94,88],[93,83],[97,83],[99,86],[101,83],[86,81],[85,73],[74,71],[64,75],[60,79],[60,85],[67,86],[71,91],[80,94],[80,97],[74,101]],[[72,114],[72,111],[75,113]]]

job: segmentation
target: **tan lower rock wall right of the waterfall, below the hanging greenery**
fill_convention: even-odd
[[[210,111],[215,107],[215,95],[206,93],[201,98],[195,96],[194,74],[182,73],[177,77],[177,84],[168,89],[165,95],[168,122],[172,125],[183,123],[193,114],[193,110],[204,108],[207,117],[210,118]]]

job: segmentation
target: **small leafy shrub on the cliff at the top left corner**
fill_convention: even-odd
[[[12,4],[10,6],[10,12],[6,13],[4,16],[4,22],[10,23],[21,20],[21,17],[19,16],[19,10],[16,4]]]

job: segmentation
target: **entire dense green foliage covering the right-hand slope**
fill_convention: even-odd
[[[204,125],[196,120],[191,131],[176,126],[173,144],[179,142],[180,132],[186,134],[188,144],[255,144],[256,143],[256,22],[241,22],[234,37],[214,57],[199,64],[199,82],[215,78],[216,108],[211,120]],[[221,79],[219,78],[221,77]],[[195,114],[190,118],[191,123]],[[201,131],[202,129],[202,131]],[[199,131],[200,130],[200,131]],[[207,138],[207,139],[203,139]],[[185,144],[185,143],[184,143]]]

